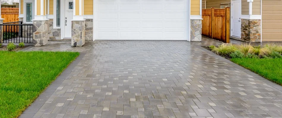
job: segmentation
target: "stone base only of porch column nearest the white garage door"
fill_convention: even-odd
[[[85,44],[85,20],[72,21],[72,46],[81,47]]]

